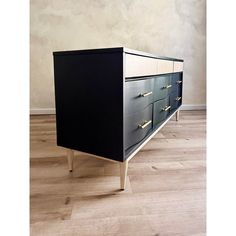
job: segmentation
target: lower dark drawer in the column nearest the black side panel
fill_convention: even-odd
[[[125,116],[125,149],[140,142],[152,129],[152,104]]]

